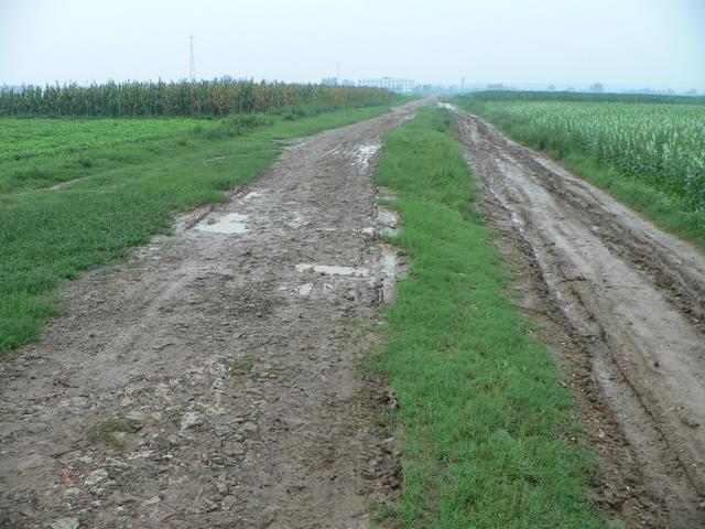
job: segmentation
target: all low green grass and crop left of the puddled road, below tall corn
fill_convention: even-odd
[[[261,174],[284,140],[388,109],[326,105],[292,117],[285,109],[199,121],[0,119],[0,130],[8,122],[22,131],[18,142],[0,132],[0,144],[23,153],[0,162],[0,357],[39,336],[64,280],[169,233],[178,210],[224,201],[224,191]]]

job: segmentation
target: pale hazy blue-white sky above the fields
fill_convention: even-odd
[[[0,0],[0,85],[221,75],[705,89],[705,0]]]

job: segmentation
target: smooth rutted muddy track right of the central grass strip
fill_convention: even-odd
[[[705,258],[454,111],[482,213],[494,208],[490,224],[519,241],[511,259],[533,262],[534,309],[553,310],[549,325],[566,336],[558,357],[570,349],[568,370],[586,367],[571,386],[612,488],[598,494],[636,527],[705,527]]]

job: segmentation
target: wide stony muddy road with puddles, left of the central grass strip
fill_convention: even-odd
[[[417,106],[293,144],[68,285],[67,314],[0,367],[0,527],[370,525],[399,476],[386,389],[356,360],[403,261],[370,176]]]

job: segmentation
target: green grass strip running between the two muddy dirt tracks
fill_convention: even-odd
[[[372,355],[399,400],[404,482],[379,515],[405,528],[597,528],[589,454],[571,398],[534,325],[505,291],[510,277],[470,209],[471,175],[445,110],[389,134],[377,183],[404,227],[409,278]]]

